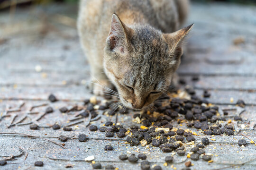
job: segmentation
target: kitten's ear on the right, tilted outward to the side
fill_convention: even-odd
[[[174,54],[174,58],[178,59],[182,53],[182,41],[184,37],[189,33],[194,24],[191,24],[187,27],[184,27],[174,33],[171,34],[163,34],[165,41],[168,43],[170,52]]]

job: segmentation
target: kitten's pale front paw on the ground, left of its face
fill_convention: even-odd
[[[107,95],[114,89],[114,86],[108,80],[92,81],[88,86],[95,95]]]

